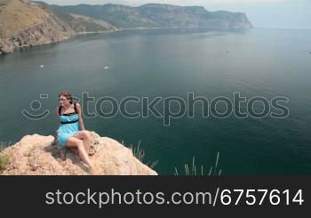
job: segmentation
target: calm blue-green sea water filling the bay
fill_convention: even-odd
[[[209,100],[235,92],[247,98],[282,95],[290,99],[291,114],[284,119],[203,118],[198,104],[195,118],[173,119],[166,127],[153,116],[84,118],[84,124],[128,145],[140,141],[145,162],[158,160],[159,174],[174,174],[175,167],[184,174],[193,157],[196,167],[208,171],[217,152],[222,174],[310,174],[310,44],[309,30],[145,29],[25,48],[0,57],[0,139],[5,144],[26,134],[54,134],[61,91],[117,100],[185,98],[188,92]],[[32,111],[29,104],[40,100],[40,93],[49,98]],[[22,109],[51,114],[34,121],[23,117]]]

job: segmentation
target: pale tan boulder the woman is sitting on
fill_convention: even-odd
[[[2,151],[9,157],[4,175],[87,175],[87,168],[74,150],[64,160],[55,138],[38,134],[24,136]],[[118,141],[92,132],[94,166],[101,175],[156,175],[156,172],[133,156],[132,149]]]

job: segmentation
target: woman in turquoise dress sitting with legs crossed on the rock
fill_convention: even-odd
[[[60,107],[57,108],[57,114],[60,127],[57,130],[57,141],[63,149],[77,149],[81,159],[89,166],[90,173],[95,174],[89,157],[91,136],[85,131],[81,106],[73,102],[70,93],[60,93],[59,101]]]

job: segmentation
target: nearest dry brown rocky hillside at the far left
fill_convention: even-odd
[[[72,29],[36,4],[1,0],[0,52],[16,47],[60,42],[73,35]]]

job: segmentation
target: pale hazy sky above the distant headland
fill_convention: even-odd
[[[257,28],[311,29],[311,0],[43,0],[49,4],[147,3],[200,5],[209,11],[246,12]]]

